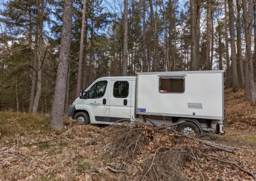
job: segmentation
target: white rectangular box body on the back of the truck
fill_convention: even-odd
[[[222,120],[223,72],[219,70],[137,73],[136,113]],[[168,78],[182,78],[183,92],[161,90],[159,81]]]

